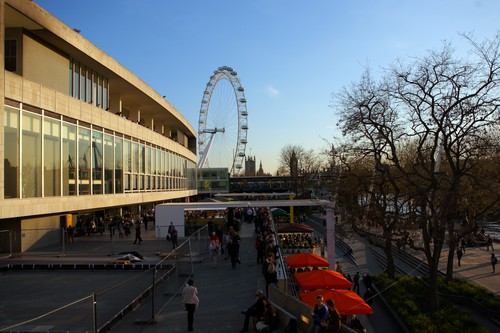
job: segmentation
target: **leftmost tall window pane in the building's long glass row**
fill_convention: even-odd
[[[19,110],[5,107],[4,197],[19,198]]]

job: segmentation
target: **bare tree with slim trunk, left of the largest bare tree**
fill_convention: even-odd
[[[359,83],[352,84],[338,95],[340,128],[353,143],[352,152],[359,161],[369,166],[369,178],[365,176],[363,194],[367,197],[358,218],[368,225],[381,227],[387,272],[395,276],[392,254],[394,234],[400,223],[403,194],[399,185],[399,171],[388,164],[393,159],[394,148],[404,133],[400,130],[397,110],[391,107],[389,96],[376,84],[366,70]],[[368,163],[366,162],[368,161]],[[359,162],[358,162],[359,163]],[[357,169],[359,170],[359,168]],[[363,178],[360,178],[361,180]],[[361,194],[361,193],[359,193]],[[358,195],[359,195],[358,194]],[[355,226],[355,225],[354,225]]]

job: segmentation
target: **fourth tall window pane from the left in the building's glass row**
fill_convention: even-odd
[[[63,195],[76,195],[77,161],[76,126],[63,123]]]

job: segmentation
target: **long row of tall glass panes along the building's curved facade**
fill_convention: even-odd
[[[181,156],[38,109],[4,106],[4,198],[185,188]],[[17,143],[17,144],[16,144]],[[42,184],[44,185],[42,187]]]

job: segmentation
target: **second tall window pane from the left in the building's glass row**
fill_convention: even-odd
[[[22,197],[41,197],[42,117],[23,112],[22,128]]]

